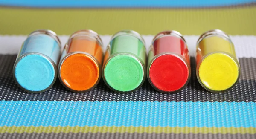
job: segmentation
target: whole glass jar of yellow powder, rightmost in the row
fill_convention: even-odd
[[[221,30],[210,30],[199,37],[196,64],[198,81],[208,91],[224,92],[239,80],[240,65],[234,45]]]

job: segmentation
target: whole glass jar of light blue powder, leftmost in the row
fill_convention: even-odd
[[[13,77],[23,90],[41,93],[57,78],[61,42],[51,30],[32,32],[21,46],[13,67]]]

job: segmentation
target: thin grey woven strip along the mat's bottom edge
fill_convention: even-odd
[[[252,134],[166,134],[166,133],[9,133],[1,139],[255,139]]]

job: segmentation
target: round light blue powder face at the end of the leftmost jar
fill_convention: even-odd
[[[43,55],[27,55],[20,59],[15,68],[17,82],[29,91],[47,89],[52,84],[54,76],[53,64]]]

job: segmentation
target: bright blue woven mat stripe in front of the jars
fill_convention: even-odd
[[[256,103],[0,101],[0,126],[256,127]]]

